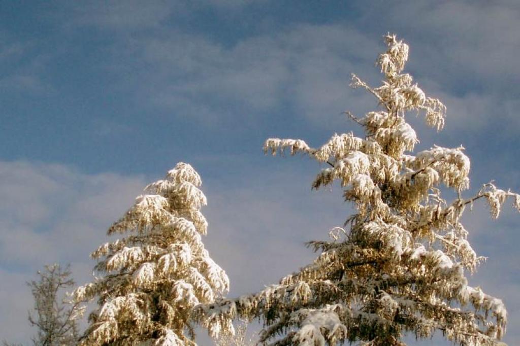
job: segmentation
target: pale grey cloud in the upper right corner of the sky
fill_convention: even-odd
[[[379,1],[359,8],[361,25],[397,31],[412,43],[410,66],[443,85],[501,89],[504,79],[518,79],[520,8],[514,1]]]

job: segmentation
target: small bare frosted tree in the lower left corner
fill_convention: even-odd
[[[79,332],[77,318],[83,313],[79,303],[72,303],[67,290],[74,287],[69,265],[46,265],[37,272],[38,281],[27,283],[34,298],[34,311],[29,312],[29,323],[38,328],[32,338],[35,346],[73,346]],[[4,341],[6,346],[15,346]]]

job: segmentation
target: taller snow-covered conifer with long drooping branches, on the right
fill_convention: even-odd
[[[380,107],[363,117],[347,113],[364,128],[365,138],[335,134],[318,149],[303,140],[275,138],[264,147],[273,155],[288,149],[328,165],[313,188],[339,181],[356,214],[333,230],[331,241],[310,242],[321,254],[278,285],[217,307],[200,305],[198,318],[206,324],[219,323],[217,316],[261,317],[266,325],[261,341],[280,346],[403,345],[406,332],[427,338],[435,330],[462,345],[491,345],[503,336],[502,301],[467,285],[466,272],[482,258],[467,241],[461,216],[480,198],[487,199],[493,218],[508,197],[520,210],[520,195],[488,183],[463,198],[470,160],[462,147],[405,154],[418,143],[408,113],[423,113],[426,124],[440,130],[445,107],[402,73],[408,46],[395,35],[385,41],[388,49],[377,60],[383,84],[372,88],[352,76],[351,86],[366,89]],[[443,199],[442,185],[458,198]]]

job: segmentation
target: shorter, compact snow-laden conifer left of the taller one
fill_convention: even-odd
[[[129,235],[93,252],[104,275],[75,291],[77,301],[98,298],[80,344],[196,345],[191,309],[229,288],[201,241],[207,222],[200,185],[197,172],[178,163],[110,227],[109,235]]]

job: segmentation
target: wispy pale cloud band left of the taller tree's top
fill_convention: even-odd
[[[297,25],[231,46],[163,28],[118,41],[112,60],[118,88],[124,85],[145,107],[210,126],[238,118],[255,124],[289,107],[297,121],[320,126],[329,119],[343,123],[345,108],[375,106],[348,84],[350,73],[372,67],[380,48],[376,39],[344,25]],[[375,75],[375,69],[365,73]]]

